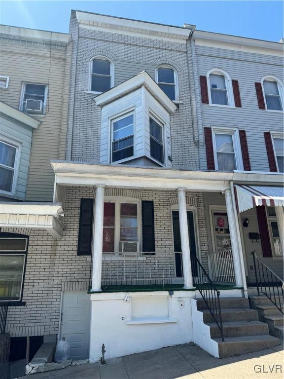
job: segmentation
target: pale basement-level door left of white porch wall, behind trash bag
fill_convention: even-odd
[[[86,292],[64,292],[60,336],[70,344],[71,359],[89,358],[90,295]]]

